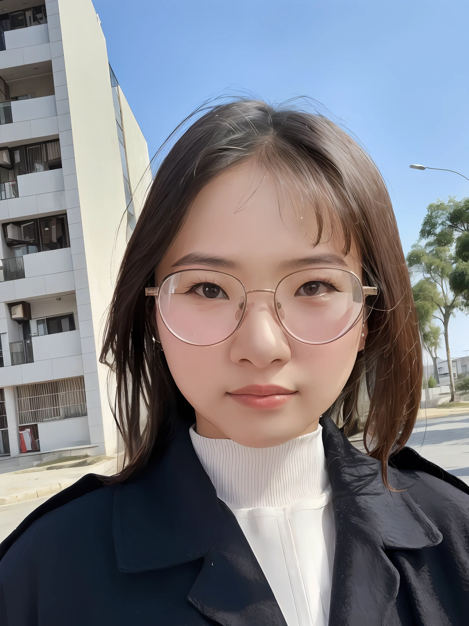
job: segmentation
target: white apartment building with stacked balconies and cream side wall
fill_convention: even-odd
[[[0,472],[114,453],[97,355],[151,178],[91,0],[37,1],[0,0]]]

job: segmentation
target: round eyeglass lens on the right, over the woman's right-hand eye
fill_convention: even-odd
[[[360,280],[346,270],[295,272],[277,287],[275,305],[285,330],[305,343],[338,339],[356,324],[363,309]]]

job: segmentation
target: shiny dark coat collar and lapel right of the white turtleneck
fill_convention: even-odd
[[[406,491],[389,491],[380,461],[354,448],[329,418],[321,418],[333,491],[336,552],[330,626],[397,626],[399,574],[385,549],[433,546],[441,534]],[[409,483],[389,470],[394,488]]]

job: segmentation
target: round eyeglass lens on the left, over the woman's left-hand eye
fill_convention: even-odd
[[[158,290],[159,314],[168,329],[195,346],[218,344],[236,331],[246,305],[241,282],[210,270],[183,270]]]

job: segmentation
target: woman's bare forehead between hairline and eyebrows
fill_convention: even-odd
[[[241,270],[280,269],[291,259],[312,254],[343,258],[341,228],[332,226],[326,219],[321,241],[313,245],[314,211],[295,200],[288,179],[251,160],[227,170],[199,192],[163,261],[164,269],[194,252],[232,260]],[[354,246],[345,262],[352,271],[360,270]]]

